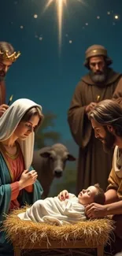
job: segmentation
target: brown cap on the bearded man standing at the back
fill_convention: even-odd
[[[89,59],[91,57],[96,57],[96,56],[103,56],[105,57],[105,61],[107,65],[111,65],[113,61],[108,57],[107,50],[105,49],[104,46],[94,44],[93,46],[90,46],[87,48],[86,53],[85,53],[85,62],[84,66],[89,69]]]

